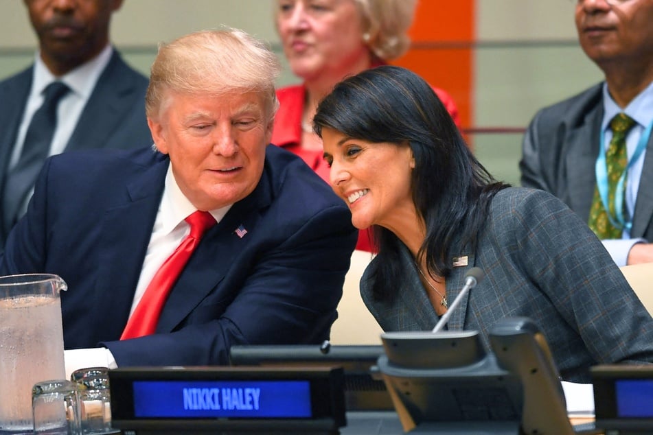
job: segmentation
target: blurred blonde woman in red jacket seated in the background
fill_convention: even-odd
[[[284,55],[303,82],[277,91],[272,143],[301,156],[328,181],[322,141],[312,130],[317,104],[344,78],[402,56],[409,49],[416,5],[417,0],[277,0],[275,23]],[[459,125],[452,98],[433,90]],[[360,233],[356,249],[374,250],[367,231]]]

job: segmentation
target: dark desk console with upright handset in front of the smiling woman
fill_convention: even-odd
[[[477,331],[381,335],[378,368],[408,434],[571,435],[547,342],[527,318]]]

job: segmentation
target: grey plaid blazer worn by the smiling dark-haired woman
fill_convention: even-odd
[[[485,272],[452,312],[448,329],[477,330],[485,346],[497,320],[526,316],[540,327],[566,380],[590,381],[594,364],[653,362],[653,319],[603,245],[573,211],[549,193],[510,188],[492,201],[487,226],[468,266],[446,279],[449,303],[473,266]],[[438,317],[409,251],[402,252],[404,284],[391,301],[371,294],[383,254],[363,274],[360,292],[385,331],[431,330]]]

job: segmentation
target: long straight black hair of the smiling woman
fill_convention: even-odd
[[[470,152],[446,108],[419,75],[393,66],[368,69],[334,87],[319,104],[314,129],[332,128],[370,142],[409,143],[415,158],[413,202],[426,225],[417,253],[428,271],[447,277],[452,242],[460,238],[472,252],[490,202],[508,185],[492,178]],[[379,255],[389,261],[377,269],[374,294],[391,296],[401,282],[400,241],[374,226]]]

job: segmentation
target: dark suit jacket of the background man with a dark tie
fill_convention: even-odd
[[[16,134],[32,89],[33,66],[0,82],[0,195]],[[128,67],[117,51],[84,106],[65,151],[90,148],[134,149],[152,144],[145,117],[148,79]],[[0,198],[0,207],[2,207]],[[0,211],[0,219],[3,213]],[[0,251],[7,234],[0,225]]]

